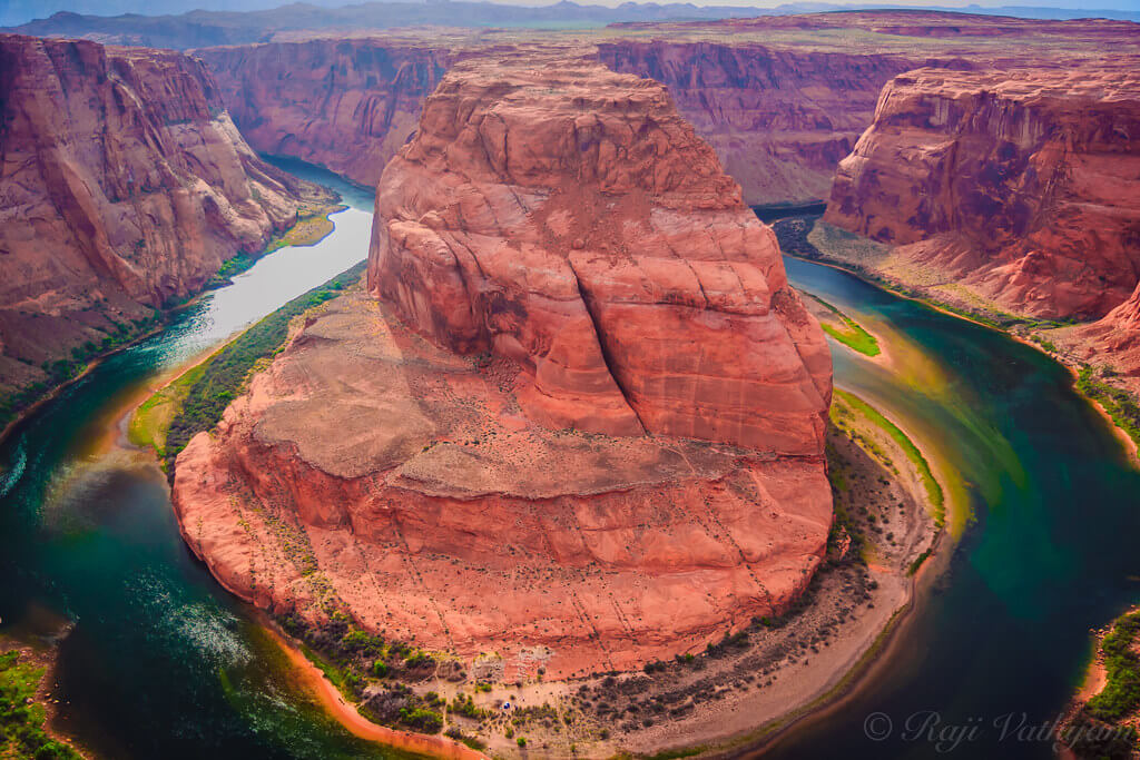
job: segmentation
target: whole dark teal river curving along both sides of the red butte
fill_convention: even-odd
[[[153,461],[92,446],[156,377],[364,258],[370,196],[286,167],[351,204],[328,238],[267,256],[0,446],[0,631],[26,638],[73,624],[52,696],[64,725],[108,758],[394,754],[328,719],[250,608],[194,559]],[[844,272],[787,264],[795,285],[881,336],[893,370],[833,345],[837,385],[920,438],[974,520],[959,526],[947,570],[886,667],[773,755],[936,757],[933,729],[977,726],[955,754],[1051,757],[1048,742],[1003,737],[996,721],[1050,720],[1088,657],[1089,629],[1140,596],[1140,474],[1044,356]]]

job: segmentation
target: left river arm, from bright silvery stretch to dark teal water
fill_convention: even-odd
[[[312,247],[283,248],[111,357],[2,447],[0,631],[58,636],[64,726],[107,758],[392,757],[348,735],[295,684],[250,610],[182,544],[145,455],[91,451],[107,410],[367,255],[372,197],[316,170],[351,204]]]

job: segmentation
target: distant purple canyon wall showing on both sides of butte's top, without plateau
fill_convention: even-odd
[[[426,36],[316,38],[195,55],[258,150],[370,186],[415,130],[424,98],[451,63],[510,48],[458,38],[454,44]],[[596,51],[614,71],[666,84],[749,204],[825,198],[836,164],[871,123],[883,83],[917,65],[901,55],[739,43],[618,40]]]

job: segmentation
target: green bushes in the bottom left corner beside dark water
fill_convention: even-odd
[[[34,701],[43,673],[19,652],[0,655],[0,758],[79,760],[78,752],[43,729],[47,711]]]

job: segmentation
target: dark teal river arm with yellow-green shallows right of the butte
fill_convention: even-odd
[[[1040,352],[845,272],[787,265],[887,336],[891,373],[832,344],[836,384],[930,441],[975,520],[885,672],[772,757],[1053,757],[1040,727],[1078,683],[1089,629],[1140,600],[1140,473]]]

